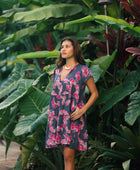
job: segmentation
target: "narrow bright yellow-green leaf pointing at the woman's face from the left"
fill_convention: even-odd
[[[59,51],[37,51],[17,55],[17,58],[57,58],[59,53]]]

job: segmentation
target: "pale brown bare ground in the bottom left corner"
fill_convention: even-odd
[[[12,170],[20,154],[19,145],[12,142],[5,157],[5,143],[0,143],[0,170]]]

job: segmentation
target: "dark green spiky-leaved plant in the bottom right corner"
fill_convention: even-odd
[[[139,125],[140,126],[140,125]],[[115,128],[116,129],[116,128]],[[105,168],[120,168],[120,169],[139,169],[140,167],[140,134],[136,129],[130,129],[126,126],[121,126],[121,129],[116,129],[118,135],[108,135],[111,139],[111,149],[100,148],[105,152],[98,156],[95,169]],[[104,159],[104,158],[110,159]],[[103,162],[104,159],[104,162]],[[108,161],[107,161],[108,160]],[[101,166],[102,164],[102,166]],[[100,166],[102,168],[100,168]]]

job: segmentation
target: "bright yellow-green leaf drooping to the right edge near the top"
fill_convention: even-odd
[[[140,37],[140,26],[134,27],[133,24],[129,24],[123,19],[116,19],[105,15],[96,15],[94,19],[100,24],[111,25],[113,29],[122,29],[135,37]]]

